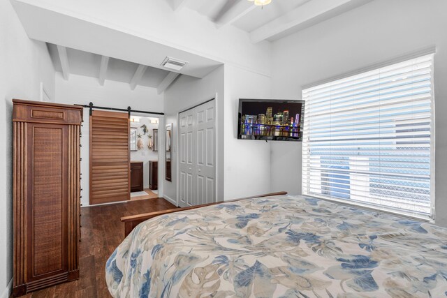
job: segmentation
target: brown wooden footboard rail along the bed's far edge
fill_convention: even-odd
[[[175,208],[175,209],[149,212],[149,213],[145,213],[145,214],[124,216],[121,218],[122,223],[124,223],[124,236],[127,237],[127,235],[130,234],[132,232],[133,228],[135,228],[138,224],[142,223],[143,221],[147,221],[149,218],[153,218],[156,216],[161,216],[164,214],[171,214],[171,213],[175,213],[175,212],[179,212],[179,211],[197,209],[197,208],[201,208],[201,207],[207,207],[207,206],[211,206],[211,205],[215,205],[215,204],[235,202],[235,201],[254,199],[254,198],[270,197],[272,195],[287,195],[287,192],[279,191],[278,193],[266,193],[264,195],[254,195],[253,197],[240,198],[240,199],[229,200],[229,201],[221,201],[221,202],[200,204],[200,205],[196,205],[196,206],[189,206],[189,207],[183,207],[183,208]]]

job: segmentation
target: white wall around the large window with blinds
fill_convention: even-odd
[[[301,87],[328,77],[377,64],[436,45],[434,98],[436,110],[436,223],[447,226],[447,1],[375,0],[277,40],[273,44],[272,96],[300,99]],[[284,64],[287,57],[287,64]],[[272,164],[282,163],[284,144],[272,147]],[[301,147],[288,154],[300,156]],[[272,176],[301,180],[295,161],[287,172],[272,168]],[[274,182],[273,189],[279,188]],[[288,186],[293,188],[293,182]]]

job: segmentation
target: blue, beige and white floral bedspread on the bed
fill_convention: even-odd
[[[145,221],[105,271],[113,297],[446,297],[447,229],[256,198]]]

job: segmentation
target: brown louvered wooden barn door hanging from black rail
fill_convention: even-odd
[[[93,111],[90,116],[90,204],[129,199],[128,114]]]

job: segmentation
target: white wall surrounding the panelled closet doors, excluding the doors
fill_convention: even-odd
[[[165,91],[165,122],[166,124],[173,124],[173,174],[172,181],[165,180],[163,193],[168,200],[175,202],[175,204],[177,204],[178,112],[212,98],[216,98],[217,115],[217,198],[223,200],[223,72],[224,66],[220,66],[203,79],[182,75]],[[163,133],[161,128],[162,124],[160,124],[159,133]],[[159,164],[159,168],[164,167],[164,156],[160,156],[160,161],[162,160],[163,162]]]

